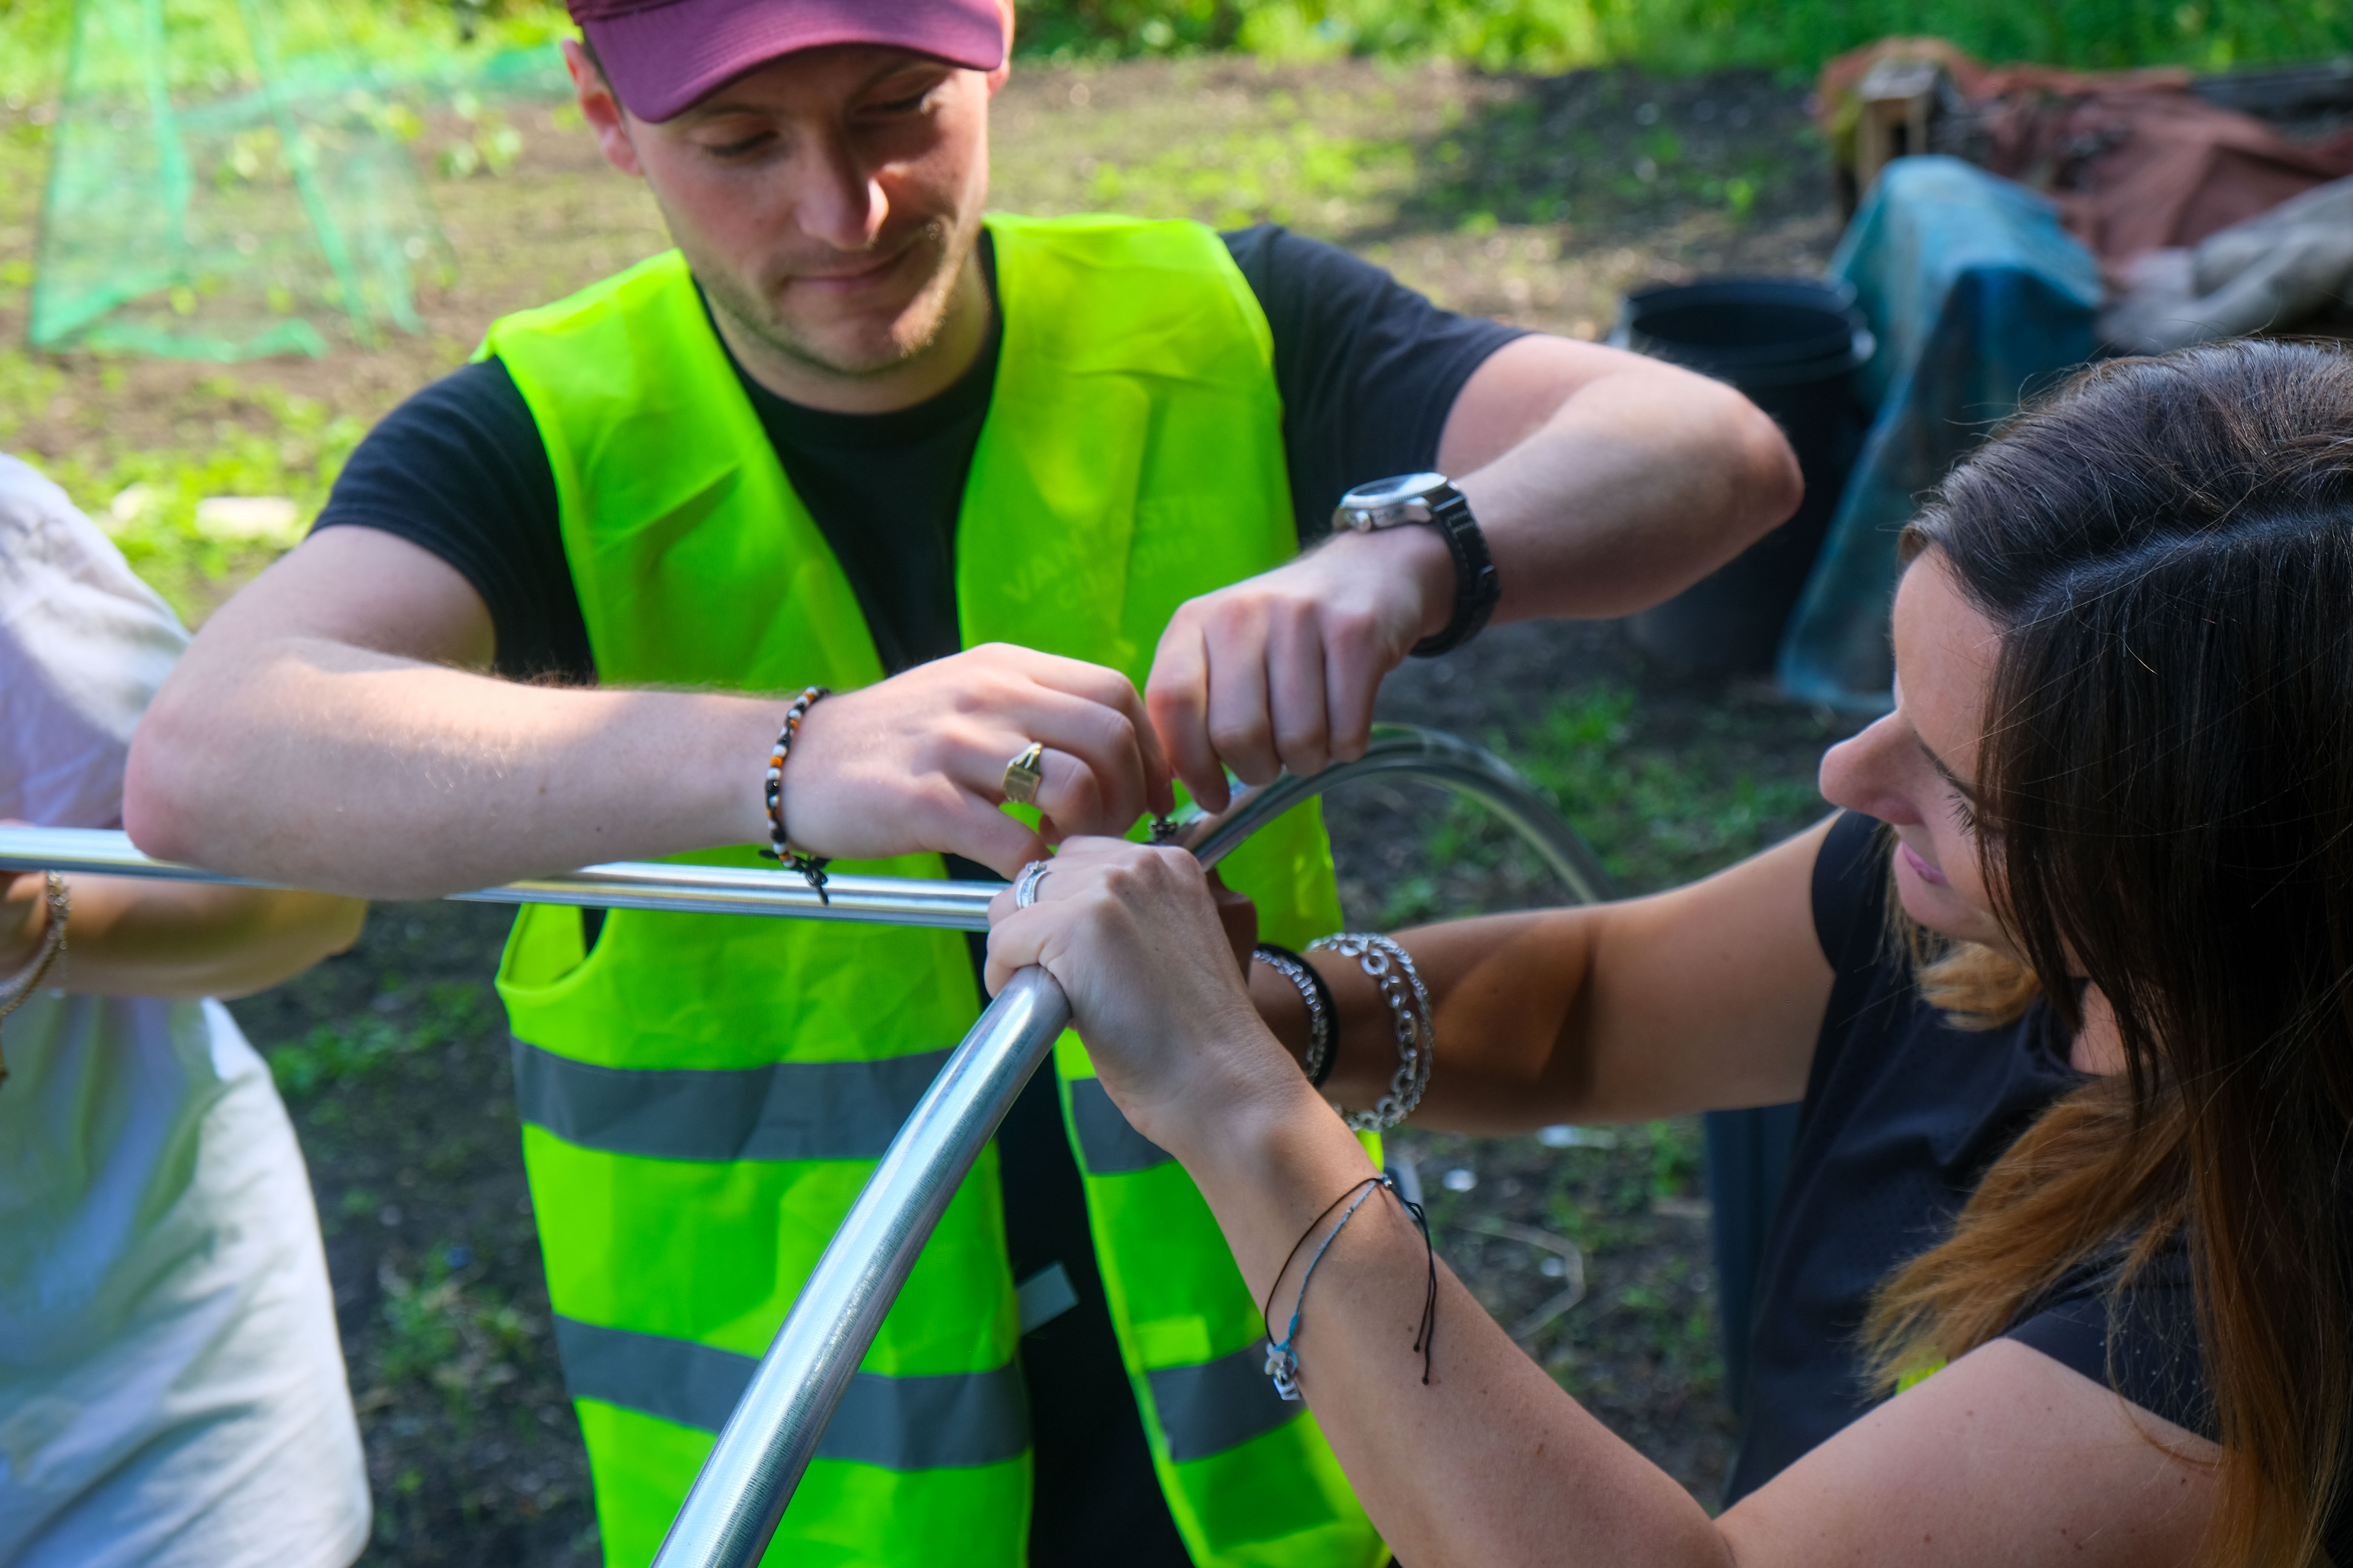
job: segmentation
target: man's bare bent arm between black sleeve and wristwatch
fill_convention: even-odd
[[[1574,390],[1560,400],[1558,386]],[[1522,430],[1529,407],[1553,411]],[[1494,555],[1497,621],[1647,609],[1802,496],[1781,430],[1732,388],[1558,339],[1522,339],[1480,367],[1440,458]]]

